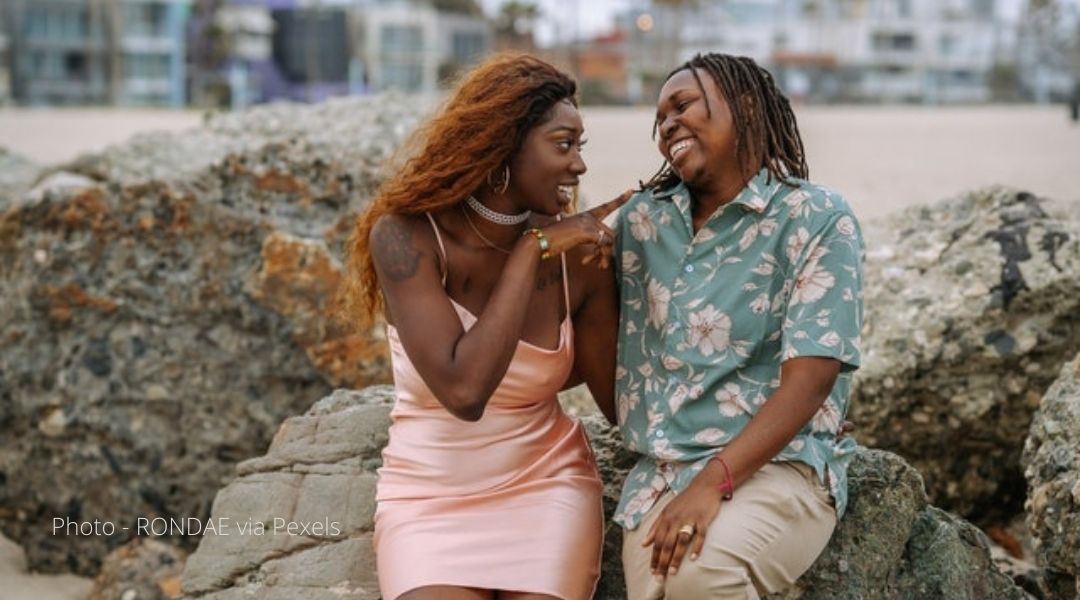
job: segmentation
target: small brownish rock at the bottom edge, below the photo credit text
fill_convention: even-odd
[[[152,537],[138,537],[109,553],[90,600],[170,600],[180,597],[187,553]]]

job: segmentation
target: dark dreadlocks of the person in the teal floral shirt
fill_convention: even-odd
[[[762,166],[769,169],[769,178],[792,183],[789,177],[806,179],[810,175],[807,166],[802,136],[799,135],[795,112],[787,96],[777,86],[772,74],[753,58],[730,54],[698,54],[678,68],[667,73],[666,82],[675,73],[689,70],[702,95],[705,94],[701,76],[708,73],[724,95],[724,101],[731,110],[735,128],[735,159],[743,171],[757,172]],[[712,115],[705,96],[705,108]],[[656,139],[660,122],[652,124]],[[752,164],[752,161],[759,161]],[[662,190],[679,182],[678,174],[666,161],[651,179],[642,183],[642,189]]]

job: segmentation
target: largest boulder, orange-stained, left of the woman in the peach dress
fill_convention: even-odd
[[[390,96],[214,117],[76,160],[0,213],[0,530],[31,568],[93,574],[149,519],[205,517],[285,417],[389,381],[383,337],[332,298],[421,114]]]

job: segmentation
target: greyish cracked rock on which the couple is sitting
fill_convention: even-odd
[[[387,441],[391,398],[390,387],[339,390],[286,421],[266,456],[241,463],[211,517],[267,529],[258,535],[205,535],[184,572],[188,597],[377,599],[374,469]],[[610,515],[633,458],[603,418],[585,417],[584,423],[608,516],[596,598],[621,600],[622,532]],[[930,506],[919,474],[895,454],[860,450],[850,491],[849,512],[828,548],[784,598],[1024,597],[991,562],[982,532]],[[294,534],[287,523],[296,523]],[[298,530],[303,523],[306,533]],[[328,524],[314,531],[311,523]]]

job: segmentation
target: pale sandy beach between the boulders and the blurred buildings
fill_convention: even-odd
[[[648,108],[585,107],[586,204],[613,197],[660,166]],[[800,107],[810,176],[864,220],[989,183],[1080,202],[1080,125],[1059,106]],[[0,110],[0,146],[43,164],[145,131],[198,126],[198,111]]]

